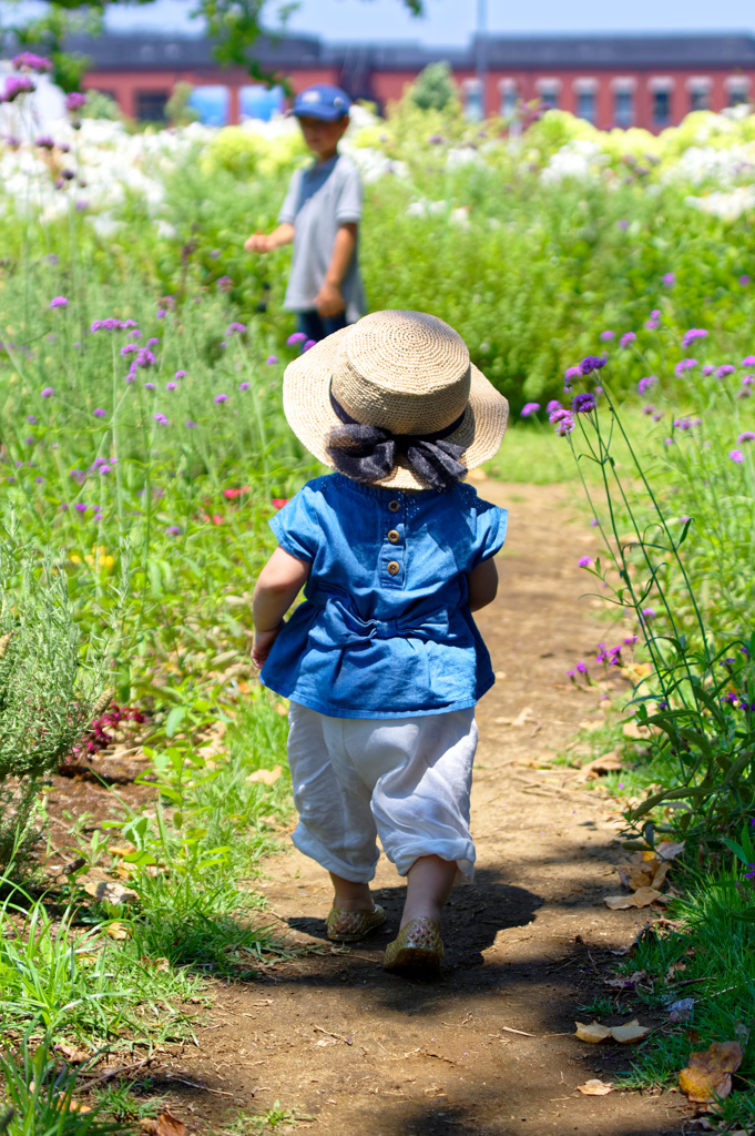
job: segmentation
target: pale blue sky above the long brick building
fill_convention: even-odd
[[[114,31],[152,27],[166,32],[198,32],[187,14],[191,0],[156,0],[145,6],[109,9]],[[275,0],[270,11],[275,10]],[[400,0],[302,0],[290,28],[322,39],[389,41],[416,40],[426,44],[461,45],[475,30],[477,0],[426,0],[427,16],[413,19]],[[697,32],[755,31],[753,0],[487,0],[492,33],[513,32]]]

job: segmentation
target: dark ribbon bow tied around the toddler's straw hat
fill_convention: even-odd
[[[381,482],[391,476],[399,457],[406,459],[420,481],[439,492],[451,488],[467,473],[467,467],[459,461],[467,448],[445,441],[459,429],[463,414],[445,429],[433,434],[392,434],[380,426],[366,426],[351,418],[333,391],[330,404],[344,425],[330,432],[327,453],[336,469],[347,477],[358,482]]]

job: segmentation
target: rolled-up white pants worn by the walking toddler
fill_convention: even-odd
[[[296,702],[288,763],[299,825],[293,842],[328,871],[369,883],[385,854],[405,876],[414,860],[455,860],[469,879],[475,711],[418,718],[327,718]]]

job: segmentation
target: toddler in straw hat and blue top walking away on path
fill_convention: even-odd
[[[293,841],[330,872],[328,937],[351,943],[385,919],[379,836],[408,879],[384,967],[433,976],[441,911],[473,872],[475,704],[494,677],[471,613],[495,598],[506,528],[462,478],[498,449],[509,407],[447,324],[379,311],[286,368],[284,410],[336,470],[272,518],[254,590],[253,661],[291,699]]]

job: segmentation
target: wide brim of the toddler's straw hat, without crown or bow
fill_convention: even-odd
[[[283,376],[283,409],[299,441],[325,466],[333,468],[327,445],[330,432],[342,425],[330,404],[330,379],[338,349],[350,328],[344,327],[316,343],[286,367]],[[461,462],[475,469],[493,458],[503,441],[509,403],[485,375],[471,365],[469,404],[459,429],[446,438],[462,445]],[[391,475],[376,482],[387,488],[425,490],[427,485],[400,458]]]

